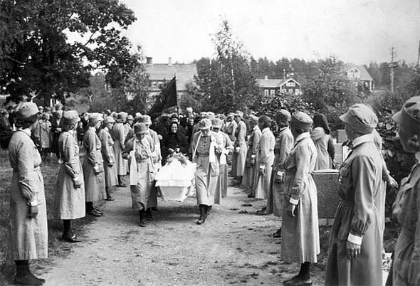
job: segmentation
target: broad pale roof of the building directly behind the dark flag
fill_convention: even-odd
[[[185,90],[185,84],[194,80],[197,75],[197,66],[195,63],[153,63],[146,64],[146,73],[149,74],[149,80],[172,80],[177,76],[177,90]]]

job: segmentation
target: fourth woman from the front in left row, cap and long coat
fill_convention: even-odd
[[[107,201],[114,201],[111,196],[112,186],[117,186],[117,169],[115,169],[115,156],[114,156],[114,140],[112,140],[110,129],[115,123],[114,117],[108,116],[105,118],[105,127],[100,129],[98,134],[100,142],[102,144],[102,157],[103,157],[103,169],[105,173],[105,192],[107,194]]]

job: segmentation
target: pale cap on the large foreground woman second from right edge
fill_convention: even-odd
[[[352,105],[344,115],[340,116],[340,120],[360,134],[372,133],[378,124],[378,117],[372,107],[362,103]]]

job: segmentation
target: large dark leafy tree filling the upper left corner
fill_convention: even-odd
[[[63,99],[87,87],[93,69],[117,87],[137,65],[121,35],[133,21],[134,13],[118,0],[2,0],[0,87],[12,99]],[[70,34],[80,40],[71,43]]]

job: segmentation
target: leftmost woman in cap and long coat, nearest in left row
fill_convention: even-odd
[[[45,280],[29,270],[28,260],[48,257],[46,199],[41,169],[41,155],[31,139],[38,107],[23,102],[16,107],[16,131],[9,143],[13,169],[10,186],[11,254],[16,263],[14,282],[20,285],[43,285]]]

